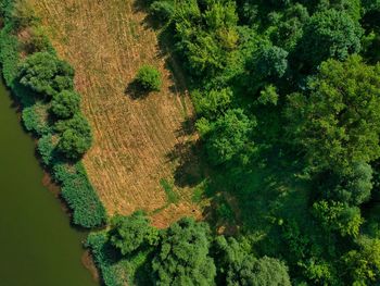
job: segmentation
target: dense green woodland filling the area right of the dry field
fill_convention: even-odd
[[[235,197],[250,240],[213,243],[215,281],[379,284],[379,1],[156,0],[150,11],[191,78],[207,184]]]

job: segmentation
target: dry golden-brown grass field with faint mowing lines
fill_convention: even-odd
[[[176,170],[186,161],[185,146],[197,140],[183,130],[192,105],[183,84],[175,84],[165,67],[169,60],[138,3],[29,1],[60,57],[76,70],[83,111],[94,134],[84,163],[107,211],[128,214],[144,209],[161,227],[182,215],[200,217],[192,189],[175,184]],[[163,89],[136,98],[128,84],[145,63],[161,70]],[[198,172],[197,164],[190,169]]]

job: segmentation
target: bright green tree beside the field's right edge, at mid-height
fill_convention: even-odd
[[[214,165],[226,163],[236,156],[252,151],[251,140],[255,120],[250,120],[241,109],[231,109],[217,119],[206,140],[208,158]]]

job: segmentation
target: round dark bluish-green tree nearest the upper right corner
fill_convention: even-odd
[[[360,51],[363,29],[346,12],[334,9],[315,13],[300,41],[301,60],[309,67],[327,59],[344,61]]]

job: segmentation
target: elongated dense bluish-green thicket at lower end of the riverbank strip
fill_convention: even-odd
[[[81,163],[58,163],[53,166],[53,175],[62,186],[62,197],[73,210],[74,224],[91,228],[106,222],[105,209]]]

